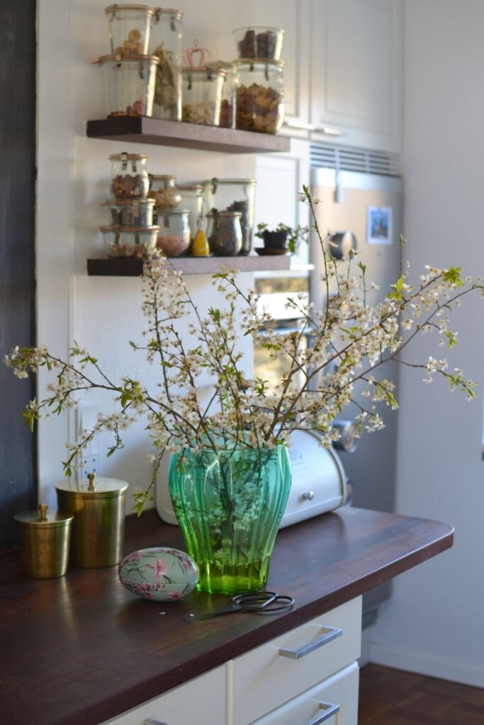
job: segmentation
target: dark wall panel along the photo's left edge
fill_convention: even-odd
[[[35,344],[36,1],[0,0],[0,547],[17,542],[12,516],[36,505],[36,438],[20,412],[35,380],[3,364]]]

